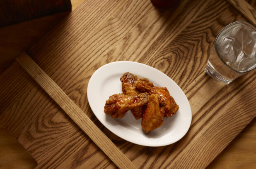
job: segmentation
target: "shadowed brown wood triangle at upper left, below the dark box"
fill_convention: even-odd
[[[0,74],[15,62],[19,54],[43,38],[69,13],[61,12],[0,28]]]

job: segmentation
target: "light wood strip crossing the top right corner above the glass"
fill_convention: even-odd
[[[256,10],[245,0],[227,0],[236,8],[248,21],[256,27]]]

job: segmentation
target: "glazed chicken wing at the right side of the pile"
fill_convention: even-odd
[[[146,78],[137,80],[134,85],[140,92],[158,95],[160,111],[164,113],[164,117],[171,117],[178,111],[179,106],[176,104],[173,97],[170,96],[166,87],[154,86],[153,83]]]

